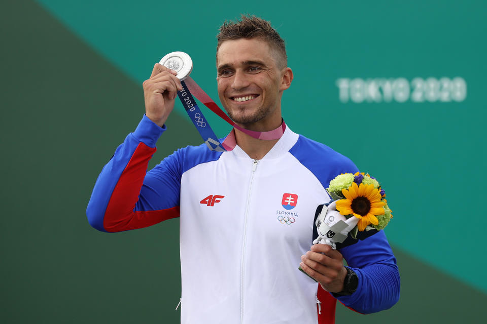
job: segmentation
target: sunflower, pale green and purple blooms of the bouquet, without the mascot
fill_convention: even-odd
[[[338,175],[330,181],[326,190],[336,200],[336,210],[340,215],[346,219],[359,219],[357,226],[350,232],[353,238],[357,237],[358,231],[384,229],[392,218],[386,192],[368,173]]]

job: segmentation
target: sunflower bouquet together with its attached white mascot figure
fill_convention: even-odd
[[[323,206],[316,220],[318,238],[313,244],[328,244],[335,249],[335,243],[349,235],[357,239],[359,232],[384,229],[392,218],[386,192],[368,173],[340,174],[330,181],[326,191],[334,201]]]

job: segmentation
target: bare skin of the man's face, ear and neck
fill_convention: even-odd
[[[245,129],[266,132],[279,128],[281,97],[293,80],[285,56],[260,37],[226,38],[230,36],[220,35],[217,48],[218,95],[222,105],[230,118]],[[277,142],[255,139],[239,130],[235,130],[235,138],[257,160]]]

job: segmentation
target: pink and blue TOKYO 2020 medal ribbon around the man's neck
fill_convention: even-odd
[[[210,150],[218,152],[231,151],[236,145],[235,138],[234,136],[227,136],[223,143],[220,143],[218,137],[215,135],[215,132],[213,132],[210,124],[208,124],[208,121],[196,104],[192,94],[194,94],[194,96],[206,107],[210,108],[210,110],[223,118],[228,124],[237,130],[252,136],[253,138],[261,140],[277,140],[283,136],[284,131],[286,130],[286,123],[284,123],[284,121],[281,126],[268,132],[256,132],[241,128],[233,123],[233,121],[223,112],[223,110],[212,100],[212,98],[210,98],[210,96],[203,91],[203,89],[201,89],[200,86],[196,84],[196,82],[190,76],[188,76],[184,81],[181,81],[181,85],[183,86],[183,90],[178,91],[179,99],[183,103],[184,109],[191,118],[193,125],[196,127],[204,143]]]

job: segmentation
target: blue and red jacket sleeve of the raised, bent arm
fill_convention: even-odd
[[[144,115],[102,169],[86,215],[96,229],[118,232],[179,216],[181,164],[175,153],[147,173],[155,144],[165,131]]]

